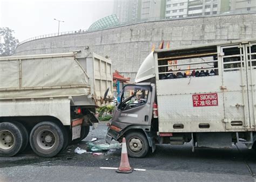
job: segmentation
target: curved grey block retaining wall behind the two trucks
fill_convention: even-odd
[[[139,65],[153,44],[170,41],[170,47],[214,41],[254,38],[256,14],[227,15],[148,22],[90,33],[37,39],[19,45],[15,55],[62,53],[88,45],[93,52],[108,55],[113,71],[134,80]]]

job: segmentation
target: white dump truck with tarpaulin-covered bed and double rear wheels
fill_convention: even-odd
[[[111,60],[85,50],[0,58],[0,156],[28,143],[53,157],[87,136],[110,87]]]

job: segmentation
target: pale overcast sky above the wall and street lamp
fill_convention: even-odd
[[[15,31],[19,41],[58,32],[88,29],[113,13],[113,0],[0,0],[0,27]]]

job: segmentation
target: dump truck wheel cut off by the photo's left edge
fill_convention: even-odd
[[[0,123],[0,156],[11,157],[16,155],[23,144],[21,129],[14,123]]]

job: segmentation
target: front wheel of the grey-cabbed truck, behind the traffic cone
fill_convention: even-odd
[[[130,132],[125,136],[127,153],[130,157],[143,158],[149,151],[149,142],[141,132]]]

